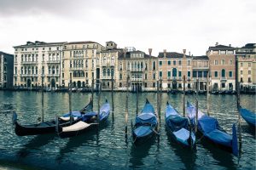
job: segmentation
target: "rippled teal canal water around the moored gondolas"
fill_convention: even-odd
[[[97,94],[95,110],[97,111]],[[187,95],[195,102],[195,96]],[[145,99],[154,105],[156,94],[139,94],[139,110]],[[101,103],[111,93],[102,92]],[[72,94],[73,111],[79,111],[90,100],[90,94]],[[255,169],[255,131],[241,121],[242,155],[240,158],[219,150],[203,140],[195,150],[172,142],[166,133],[164,111],[166,101],[183,112],[181,94],[162,94],[160,138],[135,147],[131,142],[131,121],[135,122],[136,94],[129,94],[128,138],[125,139],[125,93],[113,95],[114,113],[100,131],[85,133],[71,139],[60,139],[55,134],[16,136],[12,112],[22,124],[36,123],[41,116],[41,94],[38,92],[0,91],[0,168],[4,169]],[[218,118],[220,126],[231,133],[238,122],[235,95],[211,95],[210,113]],[[241,95],[241,105],[255,111],[255,95]],[[207,111],[206,95],[199,95],[199,108]],[[44,120],[61,116],[68,111],[68,94],[44,93]]]

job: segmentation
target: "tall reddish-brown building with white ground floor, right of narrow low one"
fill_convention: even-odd
[[[236,89],[236,48],[224,45],[209,47],[207,50],[211,71],[212,90]]]

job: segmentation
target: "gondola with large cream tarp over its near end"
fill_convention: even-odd
[[[100,123],[106,122],[110,113],[110,105],[108,100],[102,105],[100,109]],[[71,126],[63,127],[61,124],[56,123],[56,132],[61,138],[70,138],[73,136],[77,136],[81,133],[85,133],[91,129],[96,128],[98,126],[97,122],[97,113],[94,111],[90,111],[89,113],[84,114],[82,119],[79,122],[74,123]]]

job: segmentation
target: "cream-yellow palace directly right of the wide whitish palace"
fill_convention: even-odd
[[[61,60],[61,85],[68,87],[70,80],[73,88],[90,88],[92,80],[97,79],[97,53],[105,48],[98,42],[67,42],[63,45]],[[95,83],[96,85],[96,83]],[[96,87],[96,86],[95,86]]]

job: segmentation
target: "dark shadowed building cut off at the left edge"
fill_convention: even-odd
[[[14,55],[0,51],[0,88],[12,88],[14,81]]]

